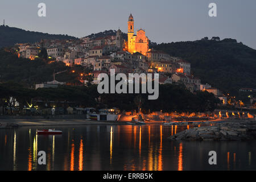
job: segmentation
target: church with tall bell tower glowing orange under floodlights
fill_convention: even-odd
[[[134,35],[134,19],[131,14],[128,19],[127,51],[130,53],[139,52],[143,55],[146,55],[148,51],[148,38],[145,35],[145,31],[142,29],[137,30],[137,35]]]

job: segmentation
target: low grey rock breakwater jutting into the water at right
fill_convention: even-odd
[[[256,139],[256,122],[234,121],[213,126],[195,127],[181,131],[171,140],[253,140]]]

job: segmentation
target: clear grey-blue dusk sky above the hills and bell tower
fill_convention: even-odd
[[[41,2],[46,3],[46,17],[38,16]],[[208,15],[211,2],[217,4],[217,17]],[[152,42],[219,36],[256,49],[255,7],[255,0],[1,0],[0,19],[10,27],[81,38],[118,27],[127,32],[132,13],[135,30],[143,28]]]

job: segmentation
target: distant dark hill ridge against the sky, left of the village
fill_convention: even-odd
[[[68,35],[44,34],[42,32],[26,31],[20,28],[0,26],[0,48],[14,46],[16,43],[35,43],[41,39],[76,39]]]

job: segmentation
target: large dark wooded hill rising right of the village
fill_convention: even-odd
[[[223,91],[256,88],[256,50],[234,39],[162,43],[154,47],[191,63],[195,76]]]

